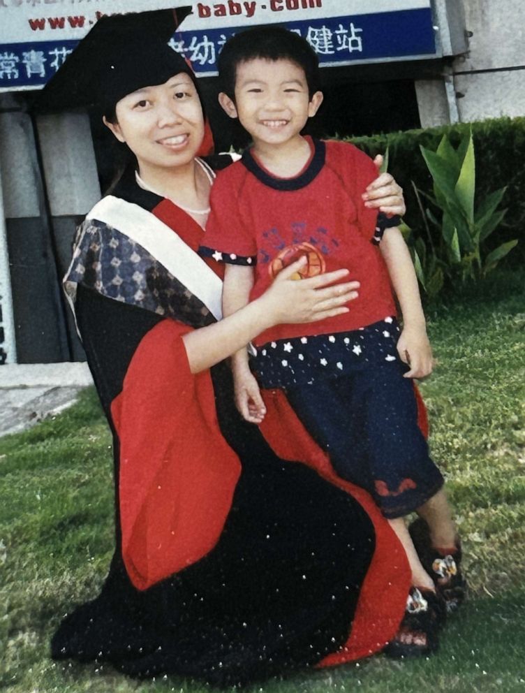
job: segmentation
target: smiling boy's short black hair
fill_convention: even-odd
[[[221,89],[235,101],[237,65],[257,58],[290,60],[304,70],[309,96],[320,89],[319,60],[306,39],[284,27],[270,24],[235,34],[219,54]]]

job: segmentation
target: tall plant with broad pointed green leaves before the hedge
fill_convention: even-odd
[[[487,195],[475,205],[475,154],[469,131],[454,149],[445,134],[436,152],[420,145],[432,177],[434,196],[414,187],[427,239],[415,238],[405,229],[411,243],[415,270],[425,291],[435,295],[445,282],[485,277],[517,245],[517,240],[502,243],[492,251],[485,242],[501,224],[507,210],[498,210],[505,187]],[[422,200],[429,206],[424,207]],[[440,233],[431,233],[429,224]],[[436,240],[433,240],[436,239]]]

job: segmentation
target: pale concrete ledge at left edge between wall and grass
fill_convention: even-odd
[[[87,387],[93,378],[87,363],[8,363],[0,366],[0,389]]]

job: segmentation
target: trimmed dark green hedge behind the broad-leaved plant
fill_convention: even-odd
[[[415,187],[424,194],[433,194],[433,180],[421,155],[420,146],[436,151],[443,135],[452,147],[459,147],[462,138],[472,131],[476,156],[476,205],[479,207],[495,189],[505,187],[503,207],[508,208],[503,221],[487,241],[487,251],[513,238],[523,239],[525,226],[525,117],[498,118],[477,123],[409,130],[372,137],[351,138],[351,141],[374,157],[389,150],[389,170],[403,187],[407,213],[405,221],[418,235],[425,233]],[[431,226],[434,242],[441,231]],[[520,242],[510,256],[512,263],[525,258],[525,242]]]

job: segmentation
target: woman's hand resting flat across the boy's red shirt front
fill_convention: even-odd
[[[308,279],[291,277],[306,263],[300,258],[279,272],[272,286],[258,298],[267,312],[268,327],[281,323],[311,323],[348,313],[346,303],[357,298],[359,282],[341,282],[348,270],[335,270]]]

